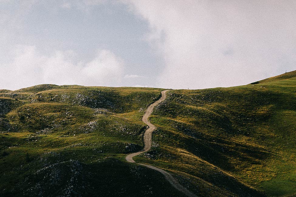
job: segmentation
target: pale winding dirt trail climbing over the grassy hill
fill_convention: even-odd
[[[160,99],[158,99],[157,101],[155,101],[154,103],[152,103],[151,105],[148,106],[148,108],[146,109],[145,111],[145,114],[142,118],[142,121],[148,125],[148,129],[145,131],[145,134],[144,134],[144,149],[142,149],[141,151],[139,152],[134,152],[134,153],[131,153],[129,155],[127,155],[125,157],[125,159],[130,162],[130,163],[135,163],[133,157],[134,156],[137,156],[143,152],[147,152],[150,150],[151,148],[151,137],[152,137],[152,132],[156,129],[155,125],[151,124],[148,120],[149,116],[151,115],[154,107],[156,105],[158,105],[160,102],[164,101],[166,99],[166,92],[169,91],[169,90],[164,90],[161,92],[162,96]],[[176,189],[178,189],[180,192],[184,193],[185,195],[187,196],[190,196],[190,197],[197,197],[195,194],[193,194],[192,192],[190,192],[188,189],[186,189],[185,187],[183,187],[182,185],[179,184],[179,182],[168,172],[164,171],[163,169],[160,169],[160,168],[157,168],[155,166],[152,166],[152,165],[146,165],[146,164],[141,164],[141,163],[137,163],[139,165],[143,165],[147,168],[151,168],[151,169],[154,169],[154,170],[157,170],[158,172],[161,172],[164,176],[165,176],[165,179],[171,183],[172,186],[174,186]]]

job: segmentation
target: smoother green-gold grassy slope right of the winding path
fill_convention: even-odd
[[[230,195],[295,194],[294,74],[245,86],[168,92],[151,117],[158,127],[155,145],[134,160],[185,172]]]

